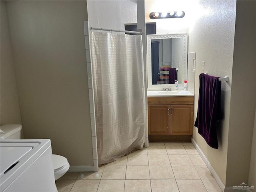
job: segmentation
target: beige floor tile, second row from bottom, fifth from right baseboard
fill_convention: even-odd
[[[125,179],[126,166],[105,166],[101,179]]]

